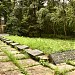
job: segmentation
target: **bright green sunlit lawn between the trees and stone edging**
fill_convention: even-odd
[[[75,39],[61,40],[51,38],[29,38],[23,36],[6,36],[6,38],[20,44],[28,45],[32,49],[42,50],[46,54],[75,49]]]

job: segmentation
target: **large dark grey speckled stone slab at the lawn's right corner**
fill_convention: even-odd
[[[49,55],[49,61],[53,62],[54,64],[63,63],[67,60],[75,60],[75,50],[58,52]]]

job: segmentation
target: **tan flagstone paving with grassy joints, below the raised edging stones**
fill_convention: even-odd
[[[9,50],[16,58],[19,58],[18,62],[25,67],[29,75],[55,75],[52,69],[40,65],[39,62],[31,58],[24,59],[24,54],[0,41],[0,48],[3,47]],[[0,49],[0,75],[23,75],[12,61],[3,61],[7,59],[9,60],[8,56]],[[75,68],[68,64],[58,64],[57,66],[61,70]],[[75,75],[75,71],[68,72],[67,75]]]

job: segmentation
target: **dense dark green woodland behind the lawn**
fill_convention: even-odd
[[[1,0],[5,32],[21,36],[75,36],[75,0]]]

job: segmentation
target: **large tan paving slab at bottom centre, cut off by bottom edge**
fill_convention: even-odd
[[[27,68],[27,72],[29,75],[54,75],[51,69],[41,65],[29,67]]]

